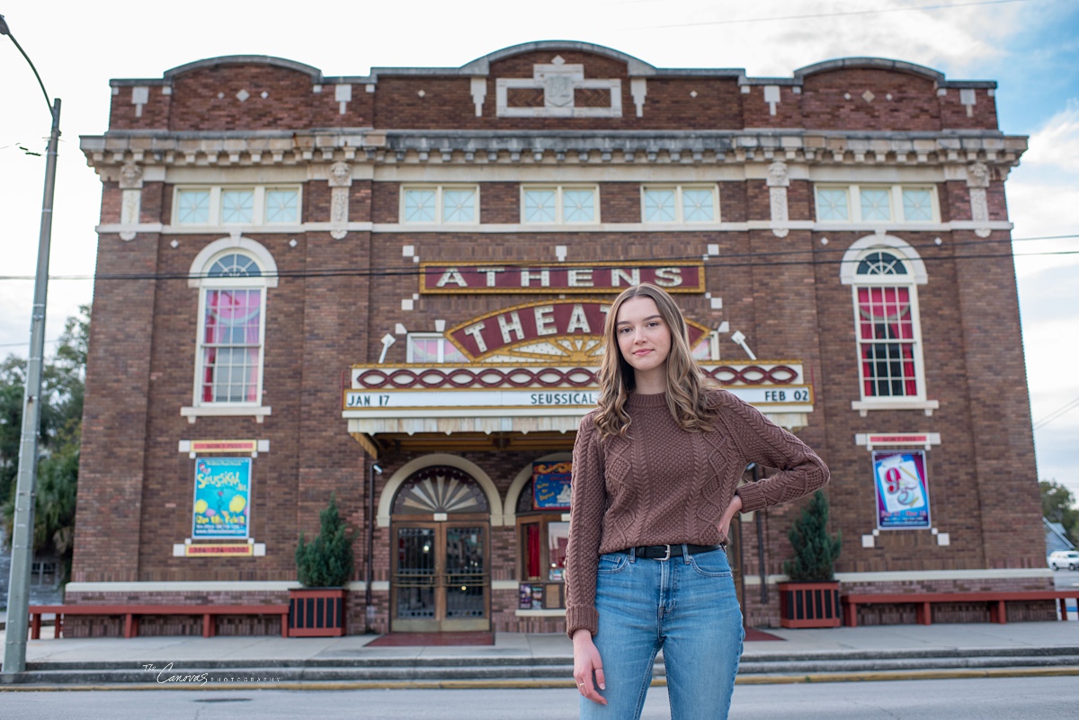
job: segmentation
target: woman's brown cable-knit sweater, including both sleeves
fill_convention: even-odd
[[[631,394],[628,438],[601,440],[589,413],[573,447],[573,500],[565,556],[565,629],[597,633],[599,556],[637,545],[726,540],[719,522],[737,488],[742,512],[794,500],[828,482],[828,468],[790,432],[726,390],[714,432],[682,430],[666,393]],[[781,472],[738,487],[750,462]]]

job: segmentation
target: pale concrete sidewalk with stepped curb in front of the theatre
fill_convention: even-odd
[[[42,628],[43,636],[52,632]],[[1075,621],[769,628],[767,633],[782,639],[746,642],[739,682],[1079,676],[1079,622]],[[17,680],[0,676],[0,689],[161,687],[154,684],[161,682],[155,673],[145,666],[160,670],[169,664],[170,671],[208,673],[211,680],[215,671],[237,682],[240,677],[269,676],[275,688],[573,684],[573,648],[564,635],[496,633],[493,646],[368,647],[377,637],[30,640],[27,673]],[[656,682],[665,682],[658,659]]]

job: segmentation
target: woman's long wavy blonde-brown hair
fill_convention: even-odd
[[[683,430],[711,432],[714,430],[715,411],[708,403],[707,380],[700,365],[689,351],[689,336],[682,310],[666,290],[651,282],[628,288],[615,299],[603,326],[603,362],[600,365],[599,412],[593,421],[600,437],[626,437],[631,419],[626,412],[626,401],[637,386],[633,368],[622,356],[615,334],[618,310],[628,300],[648,297],[659,309],[659,315],[671,331],[671,349],[667,356],[667,406]]]

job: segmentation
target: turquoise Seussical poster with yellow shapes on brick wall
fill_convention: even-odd
[[[191,538],[247,538],[251,458],[196,457]]]

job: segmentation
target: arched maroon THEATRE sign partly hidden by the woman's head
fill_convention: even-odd
[[[446,332],[446,336],[472,359],[493,355],[510,346],[551,341],[557,337],[603,335],[611,303],[572,300],[525,303],[473,318]],[[689,347],[709,329],[686,321]]]

